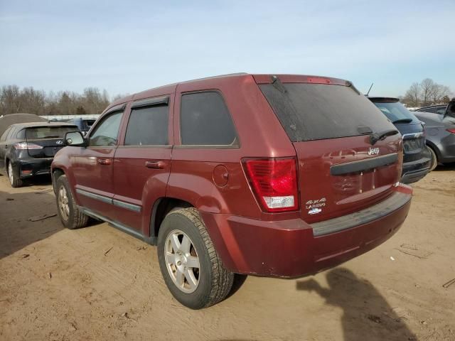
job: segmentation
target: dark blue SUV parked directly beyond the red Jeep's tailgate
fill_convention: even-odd
[[[414,183],[430,171],[432,155],[425,145],[424,128],[417,117],[394,97],[369,97],[403,137],[402,183]]]

